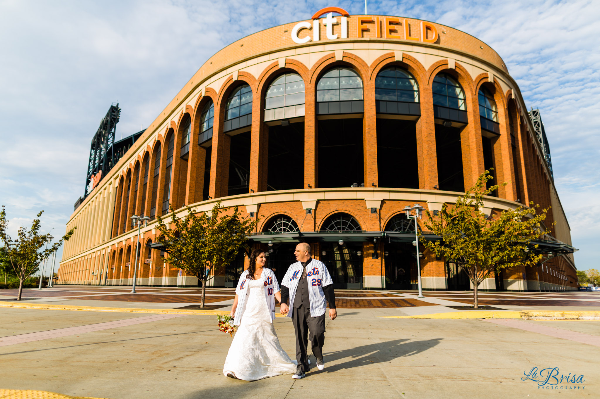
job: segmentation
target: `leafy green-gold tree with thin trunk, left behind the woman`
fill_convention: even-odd
[[[200,307],[204,307],[206,281],[211,271],[226,267],[235,259],[258,220],[242,219],[237,206],[232,214],[220,216],[224,211],[220,201],[212,207],[211,216],[207,212],[198,215],[197,209],[186,208],[187,215],[179,218],[169,206],[171,229],[157,217],[161,233],[157,241],[165,247],[167,263],[202,282]]]

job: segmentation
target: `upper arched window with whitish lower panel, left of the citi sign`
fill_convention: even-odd
[[[271,83],[265,95],[265,121],[304,116],[304,81],[284,74]]]

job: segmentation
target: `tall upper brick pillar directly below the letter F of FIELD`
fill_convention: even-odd
[[[377,176],[377,117],[375,109],[375,81],[365,81],[363,90],[364,117],[362,118],[362,156],[365,187],[379,187]],[[359,182],[360,183],[360,182]]]

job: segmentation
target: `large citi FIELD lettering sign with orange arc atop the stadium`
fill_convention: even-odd
[[[338,19],[333,14],[340,14]],[[325,18],[320,19],[322,16]],[[325,26],[329,40],[347,39],[350,14],[340,7],[325,7],[314,13],[313,22],[298,22],[292,29],[292,40],[298,44],[320,41],[320,25]],[[339,28],[337,27],[339,25]],[[310,31],[313,31],[312,34]],[[420,32],[416,36],[416,32]],[[436,27],[426,21],[410,24],[406,18],[364,16],[356,17],[356,28],[350,35],[355,38],[386,38],[435,43],[439,39]]]

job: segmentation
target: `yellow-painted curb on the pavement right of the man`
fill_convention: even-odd
[[[377,316],[388,319],[525,319],[525,320],[600,320],[597,310],[467,310],[413,316]]]

